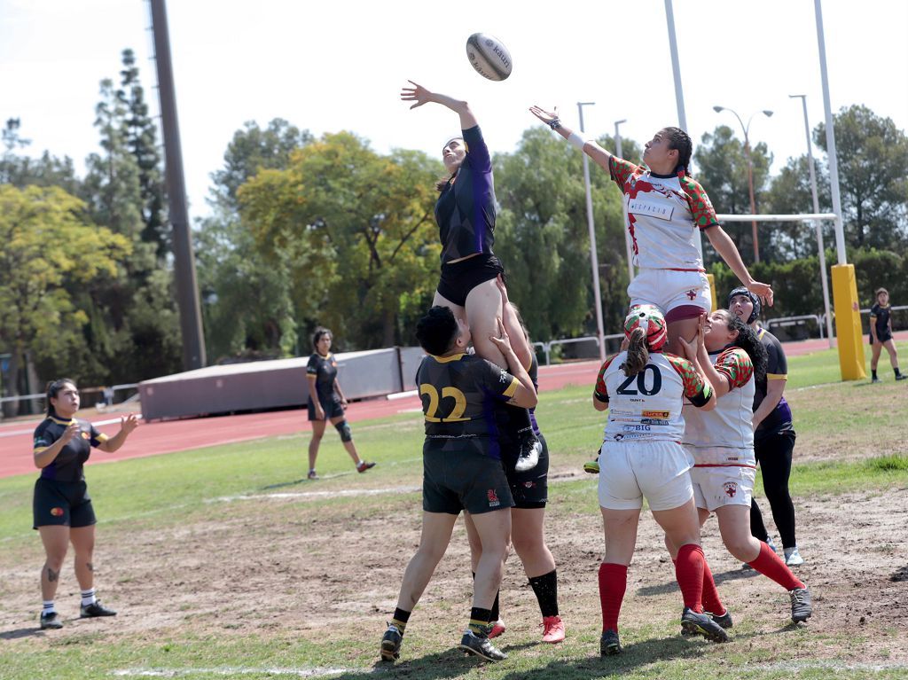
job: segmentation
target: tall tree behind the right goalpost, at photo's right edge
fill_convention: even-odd
[[[908,137],[891,118],[866,106],[843,107],[833,119],[839,187],[848,241],[890,248],[908,241]],[[826,149],[824,123],[814,140]]]

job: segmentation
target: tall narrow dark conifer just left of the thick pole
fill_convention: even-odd
[[[164,206],[167,196],[163,180],[161,151],[157,142],[157,126],[148,114],[145,91],[139,80],[139,67],[131,49],[123,50],[123,70],[120,71],[120,89],[116,97],[123,106],[126,148],[133,154],[139,173],[141,196],[142,240],[154,243],[159,260],[170,249]]]

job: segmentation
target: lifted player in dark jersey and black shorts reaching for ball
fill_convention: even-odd
[[[489,338],[498,332],[496,319],[508,317],[511,327],[517,327],[518,321],[513,310],[502,307],[496,286],[498,276],[504,275],[504,267],[492,252],[496,201],[489,148],[469,103],[410,83],[413,87],[403,88],[400,98],[415,102],[411,109],[439,103],[459,115],[463,135],[449,139],[441,151],[449,177],[437,184],[435,221],[441,239],[441,276],[432,304],[448,307],[466,321],[474,334],[476,353],[505,368],[505,358]],[[531,352],[522,334],[511,341],[518,358],[524,366],[528,365]],[[522,416],[519,433],[517,466],[522,471],[537,465],[542,450],[527,412]]]

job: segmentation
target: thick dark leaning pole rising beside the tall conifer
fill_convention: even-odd
[[[161,100],[164,172],[167,177],[167,198],[170,202],[168,220],[173,228],[173,271],[176,275],[177,301],[180,308],[180,330],[183,333],[183,369],[201,369],[205,365],[205,340],[202,332],[199,286],[195,278],[195,257],[192,252],[192,227],[186,207],[186,182],[183,177],[180,126],[176,117],[167,9],[164,0],[150,2],[154,64],[158,71],[158,95]]]

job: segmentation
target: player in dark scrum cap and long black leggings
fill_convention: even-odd
[[[754,454],[763,477],[763,489],[769,508],[773,512],[775,527],[782,538],[785,564],[796,567],[804,564],[804,557],[797,548],[795,537],[795,504],[788,490],[792,473],[792,456],[795,450],[795,426],[792,410],[785,401],[785,383],[788,380],[788,361],[782,343],[768,330],[757,325],[760,300],[746,288],[735,288],[728,293],[728,311],[747,324],[766,350],[765,378],[757,376],[754,397]],[[763,522],[763,513],[756,498],[750,504],[750,531],[767,546],[775,550]]]

